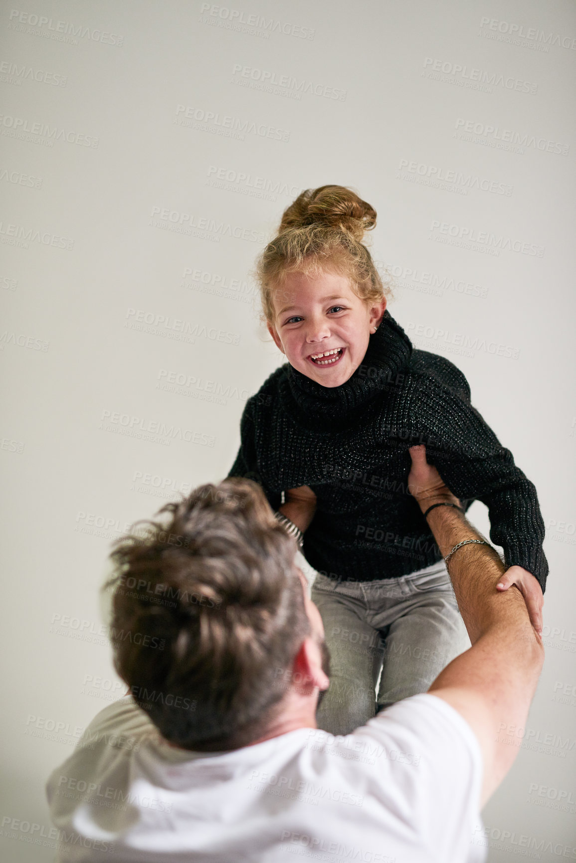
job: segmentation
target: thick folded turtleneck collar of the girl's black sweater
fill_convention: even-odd
[[[358,410],[366,406],[384,385],[393,381],[408,362],[412,343],[388,311],[372,333],[364,359],[351,377],[339,387],[323,387],[286,363],[282,400],[288,413],[305,425],[349,425]]]

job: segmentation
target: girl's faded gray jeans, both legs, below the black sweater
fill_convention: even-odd
[[[317,721],[331,734],[350,734],[378,710],[426,692],[471,646],[444,561],[375,582],[318,574],[312,599],[331,655]]]

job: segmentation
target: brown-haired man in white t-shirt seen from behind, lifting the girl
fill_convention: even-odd
[[[114,552],[130,696],[48,780],[60,861],[484,860],[479,809],[516,757],[541,638],[513,568],[498,592],[496,551],[411,455],[472,647],[353,734],[318,730],[329,669],[294,539],[250,480],[196,489]]]

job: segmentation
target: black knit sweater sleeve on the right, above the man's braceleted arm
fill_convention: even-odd
[[[490,538],[503,547],[506,566],[516,564],[531,572],[543,592],[548,561],[542,550],[544,521],[535,485],[472,406],[465,376],[450,365],[458,373],[456,385],[434,387],[431,400],[441,431],[433,432],[428,461],[453,494],[488,507]]]

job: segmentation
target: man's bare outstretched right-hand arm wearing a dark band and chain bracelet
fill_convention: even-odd
[[[410,455],[408,487],[422,512],[433,502],[453,500],[426,463],[425,448],[414,447]],[[484,539],[453,507],[435,507],[427,521],[445,557],[465,539]],[[484,757],[484,805],[516,758],[514,732],[525,727],[544,650],[520,592],[514,587],[505,593],[496,589],[505,570],[496,551],[488,545],[464,545],[448,568],[472,647],[440,672],[428,692],[458,710],[478,737]]]

